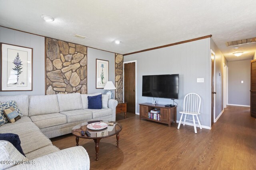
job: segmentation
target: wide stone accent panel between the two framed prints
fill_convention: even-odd
[[[46,95],[87,93],[87,47],[46,38]]]

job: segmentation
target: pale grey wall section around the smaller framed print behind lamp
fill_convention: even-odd
[[[106,90],[96,89],[96,59],[108,61],[108,81],[115,83],[115,54],[94,48],[87,48],[87,93],[106,94]],[[112,90],[115,93],[115,90]]]

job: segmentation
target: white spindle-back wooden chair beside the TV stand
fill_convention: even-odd
[[[185,125],[186,120],[193,121],[194,130],[195,130],[195,133],[197,133],[196,122],[198,122],[198,125],[199,125],[200,129],[202,129],[201,123],[198,119],[198,115],[200,115],[200,107],[201,107],[201,97],[196,93],[188,93],[184,97],[183,111],[180,111],[181,117],[180,117],[180,122],[179,122],[179,125],[178,125],[178,129],[180,128],[180,124],[181,124],[181,121],[182,121],[183,114],[185,114],[183,125]],[[193,120],[186,119],[187,115],[192,115]],[[195,121],[194,116],[196,116],[197,121]]]

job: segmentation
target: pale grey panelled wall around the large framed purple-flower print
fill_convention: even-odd
[[[0,95],[44,95],[44,37],[0,27],[0,42],[33,48],[33,91],[1,91]]]

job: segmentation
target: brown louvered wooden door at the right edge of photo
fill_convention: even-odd
[[[251,61],[251,117],[256,118],[256,59]]]

